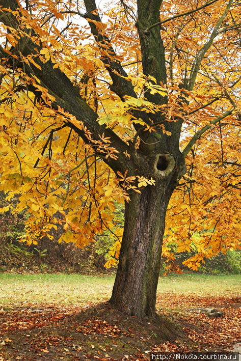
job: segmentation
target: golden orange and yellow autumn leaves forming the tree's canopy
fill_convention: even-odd
[[[104,7],[102,21],[82,3],[0,1],[0,190],[9,202],[1,212],[12,209],[17,195],[12,212],[29,213],[22,241],[34,244],[51,238],[59,225],[59,241],[81,248],[110,229],[113,248],[106,266],[116,264],[123,230],[114,201],[128,202],[130,192],[155,186],[152,177],[131,174],[128,161],[146,142],[141,134],[171,137],[169,125],[181,120],[187,172],[168,206],[163,255],[174,259],[173,244],[177,252],[194,249],[185,264],[195,270],[205,258],[241,249],[240,6],[232,0],[209,6],[163,2],[158,26],[166,54],[164,84],[143,71],[136,2]],[[44,80],[50,65],[56,93]],[[87,114],[89,108],[95,112],[98,132],[72,112],[74,93],[65,98],[61,73],[81,96],[79,103],[87,104]],[[116,91],[119,76],[137,97]],[[157,113],[165,121],[155,122]],[[113,165],[117,159],[122,171]]]

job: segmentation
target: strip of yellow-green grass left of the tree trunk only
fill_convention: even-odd
[[[110,296],[113,282],[113,276],[2,273],[0,303],[44,302],[70,305],[100,302]]]

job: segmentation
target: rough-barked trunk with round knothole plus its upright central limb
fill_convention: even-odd
[[[166,84],[165,52],[159,26],[146,31],[159,21],[160,0],[138,0],[138,21],[144,73],[155,77],[157,84]],[[145,93],[155,104],[167,103],[167,98]],[[162,123],[163,114],[154,122]],[[179,151],[181,122],[166,123],[172,135],[141,133],[139,170],[156,180],[141,195],[131,195],[125,205],[125,225],[119,265],[110,302],[120,311],[137,317],[155,315],[156,288],[162,254],[165,217],[169,200],[178,179],[185,173],[185,161]],[[139,131],[140,132],[140,131]],[[147,132],[146,132],[147,133]],[[134,154],[132,154],[132,158]],[[140,165],[143,163],[143,166]]]

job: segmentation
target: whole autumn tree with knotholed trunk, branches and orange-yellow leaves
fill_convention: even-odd
[[[94,0],[0,5],[1,190],[20,194],[29,242],[60,223],[83,247],[109,228],[110,302],[152,317],[175,188],[167,256],[174,237],[196,240],[193,268],[240,246],[240,7],[121,0],[101,21]]]

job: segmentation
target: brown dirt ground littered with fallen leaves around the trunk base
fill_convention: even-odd
[[[0,361],[144,361],[150,352],[225,351],[241,342],[241,297],[166,294],[157,304],[159,317],[142,321],[108,303],[81,310],[31,304],[2,309]],[[219,306],[224,316],[190,311],[195,306]]]

